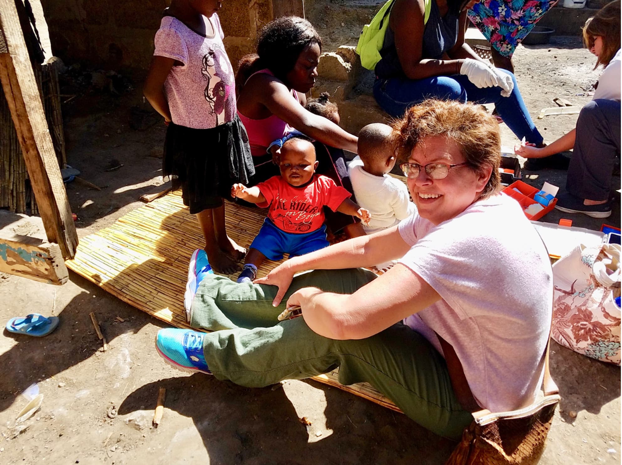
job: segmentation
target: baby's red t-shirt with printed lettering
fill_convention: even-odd
[[[281,231],[304,234],[322,228],[324,224],[323,206],[337,211],[341,203],[352,195],[338,186],[331,178],[313,175],[309,183],[295,187],[281,176],[273,176],[259,183],[259,190],[266,198],[258,206],[269,206],[268,218]]]

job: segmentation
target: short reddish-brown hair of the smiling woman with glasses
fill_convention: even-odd
[[[486,198],[501,186],[501,135],[499,124],[480,105],[455,100],[429,99],[409,109],[402,119],[391,124],[397,159],[405,163],[412,149],[427,137],[452,140],[462,152],[467,167],[492,173],[480,198]]]

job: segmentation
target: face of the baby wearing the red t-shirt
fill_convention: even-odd
[[[279,168],[282,178],[290,185],[297,187],[308,183],[317,165],[315,147],[309,140],[290,139],[283,144]]]

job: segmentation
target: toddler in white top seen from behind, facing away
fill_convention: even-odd
[[[371,220],[363,224],[366,234],[396,226],[417,211],[406,185],[389,176],[396,157],[391,144],[391,127],[373,123],[358,134],[358,157],[348,163],[348,174],[356,201],[369,210]],[[386,265],[376,265],[379,270]]]

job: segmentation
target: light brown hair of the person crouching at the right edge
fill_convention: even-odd
[[[594,69],[599,65],[608,65],[620,49],[620,0],[606,4],[593,17],[585,21],[583,45],[592,48],[596,37],[602,37],[603,51],[596,60]]]

